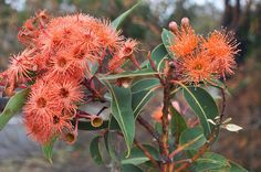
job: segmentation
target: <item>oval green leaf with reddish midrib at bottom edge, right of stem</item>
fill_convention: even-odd
[[[229,165],[226,158],[213,152],[206,152],[192,165],[196,172],[208,172],[219,170]]]

